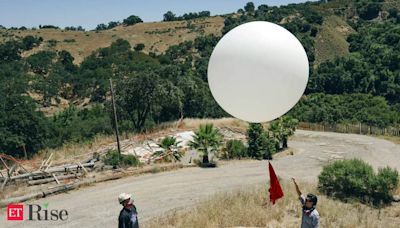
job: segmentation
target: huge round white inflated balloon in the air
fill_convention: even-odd
[[[267,122],[289,111],[308,82],[307,54],[283,27],[263,21],[240,25],[215,47],[208,83],[218,104],[248,122]]]

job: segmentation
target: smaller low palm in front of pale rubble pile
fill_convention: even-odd
[[[179,144],[180,142],[176,140],[173,136],[167,136],[161,140],[158,144],[163,151],[158,151],[153,154],[153,157],[156,157],[156,160],[164,160],[166,162],[180,161],[182,158],[182,154],[179,151]]]

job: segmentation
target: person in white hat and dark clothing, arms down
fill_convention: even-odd
[[[137,211],[133,205],[132,195],[121,193],[118,202],[123,206],[118,218],[118,228],[139,228]]]

